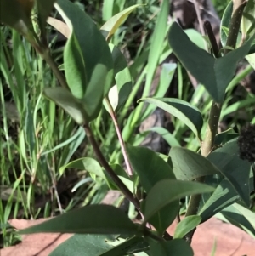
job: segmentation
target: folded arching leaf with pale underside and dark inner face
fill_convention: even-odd
[[[201,138],[200,132],[203,125],[201,112],[188,102],[172,98],[144,98],[141,101],[155,104],[174,117],[178,117],[199,139]]]

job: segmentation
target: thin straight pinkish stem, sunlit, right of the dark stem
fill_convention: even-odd
[[[125,146],[124,140],[122,138],[121,129],[119,128],[119,125],[118,125],[118,122],[117,122],[116,113],[115,113],[114,109],[112,108],[110,100],[107,97],[105,97],[105,102],[108,105],[109,112],[110,112],[110,115],[111,115],[111,119],[114,123],[115,129],[116,129],[116,134],[118,136],[118,139],[119,139],[119,142],[120,142],[120,145],[121,145],[121,148],[122,148],[122,154],[123,154],[124,161],[125,161],[126,167],[127,167],[127,174],[129,176],[132,176],[133,170],[132,170],[131,164],[130,164],[128,156],[127,156],[126,146]]]

